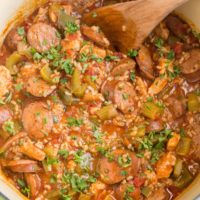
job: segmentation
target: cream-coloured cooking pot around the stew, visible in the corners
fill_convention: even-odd
[[[0,0],[0,45],[5,35],[17,23],[30,15],[37,7],[47,0]],[[148,0],[147,0],[148,1]],[[161,1],[161,0],[157,0]],[[189,0],[176,10],[194,28],[200,30],[200,0]],[[185,191],[177,197],[178,200],[200,200],[200,175]],[[27,199],[20,194],[12,183],[4,177],[0,168],[0,199],[21,200]]]

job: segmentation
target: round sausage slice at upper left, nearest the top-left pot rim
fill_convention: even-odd
[[[32,25],[28,30],[27,39],[29,44],[39,52],[48,51],[60,43],[57,30],[45,23]]]

